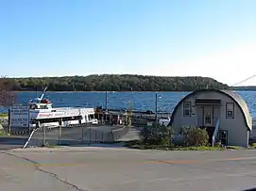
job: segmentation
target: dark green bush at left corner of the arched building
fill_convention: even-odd
[[[150,145],[170,145],[173,138],[174,132],[171,127],[152,126],[144,127],[140,132],[140,136],[145,144]]]

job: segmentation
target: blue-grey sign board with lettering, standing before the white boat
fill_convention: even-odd
[[[9,108],[10,126],[28,127],[29,126],[29,107],[11,106]]]

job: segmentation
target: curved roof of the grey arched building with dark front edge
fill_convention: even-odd
[[[197,93],[201,93],[201,92],[206,92],[206,91],[214,91],[214,92],[217,92],[217,93],[221,93],[221,94],[225,94],[226,96],[230,97],[231,100],[234,101],[234,103],[237,103],[239,109],[241,110],[243,116],[244,116],[244,119],[245,119],[245,122],[246,122],[246,125],[247,125],[247,128],[249,131],[252,130],[252,119],[250,117],[250,114],[249,114],[249,110],[248,110],[248,107],[247,107],[247,103],[246,101],[240,96],[238,95],[237,93],[231,91],[231,90],[216,90],[216,89],[201,89],[201,90],[196,90],[196,91],[193,91],[192,93],[189,93],[188,95],[186,95],[184,98],[182,98],[179,103],[175,106],[173,112],[172,112],[172,117],[171,117],[171,120],[170,120],[170,123],[169,125],[172,125],[172,122],[173,122],[173,117],[175,116],[176,112],[177,112],[177,109],[179,108],[179,105],[181,103],[183,103],[186,99],[188,99],[190,96],[194,96],[196,95]]]

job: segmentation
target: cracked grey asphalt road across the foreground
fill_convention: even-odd
[[[256,151],[27,149],[0,153],[5,191],[243,190],[256,186]]]

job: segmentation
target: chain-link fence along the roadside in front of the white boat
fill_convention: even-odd
[[[56,127],[49,129],[41,126],[28,137],[26,147],[82,145],[93,143],[118,142],[129,132],[128,126],[92,125],[86,124],[75,127]]]

